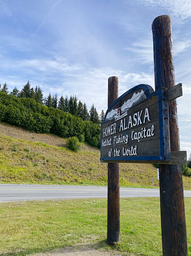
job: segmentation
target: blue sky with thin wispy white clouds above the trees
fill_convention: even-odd
[[[171,17],[180,150],[191,153],[190,0],[0,0],[0,83],[30,82],[44,97],[76,95],[88,109],[107,110],[107,81],[119,96],[154,86],[152,22]]]

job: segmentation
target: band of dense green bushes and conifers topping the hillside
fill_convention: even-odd
[[[27,83],[27,87],[30,88],[29,82]],[[23,89],[20,92],[17,91],[17,93],[14,88],[13,91],[9,93],[7,85],[4,84],[0,90],[0,121],[12,123],[13,125],[37,133],[54,133],[61,137],[68,138],[77,137],[79,141],[86,141],[90,145],[100,148],[100,121],[96,123],[93,122],[93,119],[91,120],[91,118],[93,118],[93,114],[91,117],[91,111],[88,113],[89,118],[84,118],[80,115],[79,103],[77,104],[77,98],[75,99],[75,96],[72,97],[72,102],[75,104],[70,104],[70,107],[73,107],[73,109],[72,107],[70,108],[70,111],[73,111],[72,115],[67,111],[69,108],[62,109],[61,105],[59,108],[59,103],[57,108],[55,108],[42,104],[41,101],[38,102],[37,97],[39,97],[38,99],[42,98],[41,89],[37,87],[34,93],[33,90],[30,89],[30,94],[27,94],[29,92],[29,90],[28,92],[26,90],[27,87],[23,87]],[[17,95],[15,95],[15,93]],[[61,100],[63,100],[62,97],[59,102],[61,102]],[[62,106],[65,107],[66,105],[63,104]],[[80,104],[80,106],[82,106],[81,108],[83,109],[84,104]]]

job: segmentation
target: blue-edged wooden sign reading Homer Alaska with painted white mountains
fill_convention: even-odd
[[[102,123],[101,161],[170,161],[166,89],[139,84],[111,105]]]

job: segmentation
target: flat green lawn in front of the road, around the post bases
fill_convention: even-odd
[[[191,255],[191,198],[185,198]],[[56,200],[0,205],[0,255],[24,256],[57,247],[92,244],[123,255],[162,255],[160,199],[123,198],[121,242],[106,244],[107,200]]]

